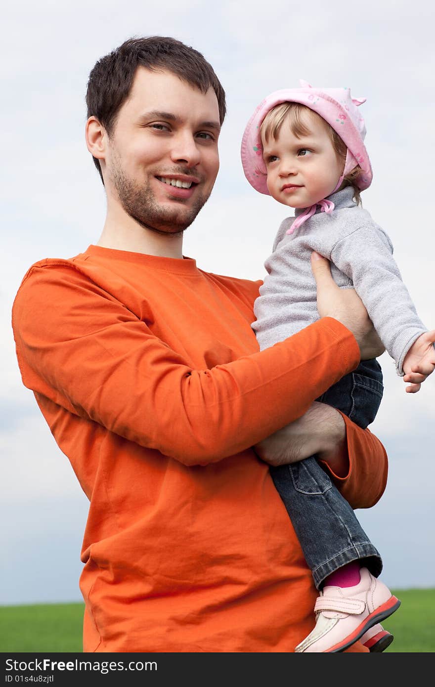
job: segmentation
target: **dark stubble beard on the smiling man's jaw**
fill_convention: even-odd
[[[179,171],[172,170],[172,173],[190,174],[191,172],[183,169]],[[198,195],[186,216],[185,212],[180,212],[184,208],[183,201],[178,201],[179,209],[174,207],[172,210],[172,208],[159,205],[150,185],[146,182],[140,185],[127,177],[120,165],[120,161],[117,161],[117,164],[111,170],[111,182],[125,212],[141,227],[157,234],[175,236],[184,232],[192,224],[199,210],[201,210],[201,207],[210,197],[210,193],[207,196],[203,194]]]

